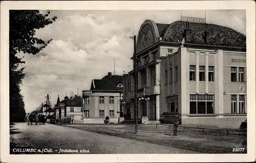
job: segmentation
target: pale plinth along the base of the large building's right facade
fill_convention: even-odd
[[[201,126],[215,126],[223,128],[240,127],[241,122],[245,121],[247,116],[215,116],[215,117],[193,117],[182,116],[182,125],[201,125]]]

